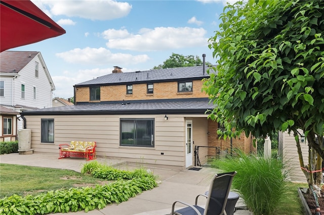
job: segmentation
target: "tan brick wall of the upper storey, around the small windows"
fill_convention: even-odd
[[[192,92],[178,92],[178,82],[153,83],[153,93],[147,94],[147,84],[133,84],[133,94],[126,94],[126,85],[110,85],[100,87],[101,101],[143,100],[143,99],[168,99],[168,98],[201,98],[208,97],[201,92],[203,82],[192,81]],[[76,102],[90,101],[89,87],[77,87]]]

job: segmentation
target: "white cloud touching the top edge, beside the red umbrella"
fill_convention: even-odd
[[[91,20],[112,20],[127,16],[132,5],[112,0],[46,1],[53,15],[81,17]]]

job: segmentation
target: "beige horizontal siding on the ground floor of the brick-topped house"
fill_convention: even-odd
[[[96,141],[97,156],[156,167],[184,169],[185,118],[189,116],[168,115],[167,121],[164,120],[164,116],[164,114],[87,115],[25,116],[25,118],[27,129],[31,129],[31,148],[34,152],[59,153],[59,144],[69,143],[72,140]],[[154,119],[154,147],[119,146],[119,119],[122,118]],[[205,139],[207,144],[207,117],[205,118],[206,122],[203,119],[193,120],[193,132],[197,135],[194,137],[195,143],[203,144],[202,141]],[[41,119],[54,119],[54,144],[41,143]],[[206,137],[203,137],[204,134]]]

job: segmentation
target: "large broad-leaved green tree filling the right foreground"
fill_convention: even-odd
[[[237,2],[227,5],[220,19],[220,30],[210,38],[218,74],[210,72],[204,83],[216,105],[209,117],[225,125],[225,137],[235,136],[232,127],[256,137],[292,132],[301,167],[313,183],[298,130],[307,137],[309,159],[318,154],[319,169],[324,158],[324,1]]]

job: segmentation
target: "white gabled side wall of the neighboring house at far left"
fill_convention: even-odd
[[[38,62],[38,78],[35,77],[35,61]],[[51,84],[38,55],[19,72],[19,75],[14,81],[14,105],[20,104],[39,109],[51,108]],[[21,98],[21,84],[25,84],[25,99]],[[34,86],[36,87],[36,99],[33,94]]]

